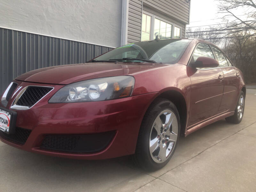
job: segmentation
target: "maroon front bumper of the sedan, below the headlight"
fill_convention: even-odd
[[[0,136],[0,140],[13,147],[26,151],[77,159],[106,159],[130,155],[135,152],[138,132],[142,118],[157,93],[148,93],[123,99],[82,102],[48,103],[52,95],[63,85],[45,85],[16,81],[19,86],[53,86],[54,91],[46,95],[34,107],[17,112],[16,127],[31,131],[24,144]],[[15,93],[16,95],[18,94]],[[9,100],[10,109],[15,95]],[[42,148],[47,136],[94,135],[91,145],[99,142],[104,133],[112,132],[113,137],[106,147],[97,152],[58,151]],[[94,141],[94,142],[93,142]],[[87,145],[88,142],[86,143]]]

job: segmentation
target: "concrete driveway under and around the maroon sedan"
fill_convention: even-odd
[[[83,161],[21,151],[0,141],[0,191],[256,191],[256,90],[240,124],[220,120],[181,138],[171,161],[143,172],[129,156]]]

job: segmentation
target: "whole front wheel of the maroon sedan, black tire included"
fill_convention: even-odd
[[[148,108],[137,140],[133,161],[141,168],[154,171],[171,159],[180,136],[180,116],[176,106],[159,98]]]

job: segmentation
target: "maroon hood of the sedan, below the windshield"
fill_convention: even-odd
[[[16,80],[45,84],[70,84],[87,79],[132,75],[166,66],[158,63],[82,63],[36,69],[16,77]]]

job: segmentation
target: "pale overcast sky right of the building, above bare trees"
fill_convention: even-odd
[[[191,0],[190,23],[187,25],[187,28],[223,23],[221,19],[218,19],[224,15],[218,13],[217,4],[218,2],[215,0]],[[244,9],[235,11],[236,15],[243,15],[245,12],[247,12],[247,10]],[[246,19],[246,16],[240,17]],[[233,18],[230,17],[230,21],[233,21]],[[207,26],[202,28],[207,28]]]

